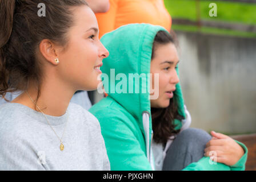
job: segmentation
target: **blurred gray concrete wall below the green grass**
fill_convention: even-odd
[[[177,32],[192,127],[256,133],[256,39]]]

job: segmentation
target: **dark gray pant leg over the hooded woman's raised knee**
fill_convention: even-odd
[[[182,170],[203,157],[205,145],[211,136],[201,129],[183,130],[166,152],[163,171]]]

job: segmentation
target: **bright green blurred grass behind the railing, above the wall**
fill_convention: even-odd
[[[197,20],[197,6],[195,0],[164,0],[166,9],[172,18],[183,18]],[[217,17],[209,16],[210,3],[217,5]],[[203,20],[222,21],[229,23],[242,23],[256,25],[256,3],[239,3],[225,1],[200,1],[200,14]],[[195,26],[173,25],[174,30],[198,31]],[[202,32],[213,34],[225,34],[233,36],[256,37],[256,32],[241,32],[233,30],[222,30],[218,28],[202,28]]]

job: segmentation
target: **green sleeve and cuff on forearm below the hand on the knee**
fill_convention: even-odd
[[[238,142],[236,142],[243,148],[245,154],[238,160],[238,162],[233,166],[226,166],[226,164],[222,163],[213,163],[210,160],[210,157],[203,157],[196,163],[191,163],[187,166],[184,171],[244,171],[245,163],[247,160],[247,148],[246,146]]]

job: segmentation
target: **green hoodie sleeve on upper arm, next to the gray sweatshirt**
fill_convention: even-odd
[[[104,112],[104,111],[103,111]],[[105,140],[111,171],[150,171],[143,146],[133,133],[131,126],[126,125],[117,114],[101,113],[98,118],[102,136]]]

